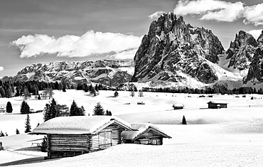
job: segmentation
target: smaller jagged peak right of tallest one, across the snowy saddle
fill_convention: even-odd
[[[257,41],[251,34],[245,31],[240,31],[238,35],[236,34],[235,41],[231,41],[230,48],[226,52],[227,59],[230,59],[228,68],[248,69],[257,45]]]

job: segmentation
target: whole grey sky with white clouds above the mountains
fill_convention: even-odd
[[[262,0],[0,0],[0,77],[32,63],[133,59],[163,12],[211,29],[225,50],[263,27]]]

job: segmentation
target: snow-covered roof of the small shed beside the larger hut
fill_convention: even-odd
[[[144,134],[144,132],[149,131],[149,129],[153,129],[156,133],[162,135],[166,138],[171,138],[171,136],[168,136],[165,134],[161,129],[159,129],[154,124],[150,123],[133,123],[131,124],[132,129],[136,131],[122,131],[122,137],[123,139],[129,139],[129,140],[136,140],[141,136],[141,134]]]

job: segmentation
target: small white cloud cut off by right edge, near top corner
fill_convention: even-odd
[[[263,25],[263,4],[257,4],[254,6],[246,6],[244,17],[244,23],[254,23],[255,26]]]

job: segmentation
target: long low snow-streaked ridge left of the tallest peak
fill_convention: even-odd
[[[131,69],[134,69],[133,61],[126,60],[38,63],[23,68],[12,80],[58,81],[70,85],[78,82],[97,82],[118,86],[131,80],[132,73],[129,72]]]

